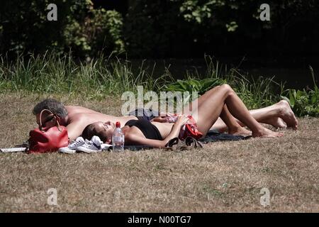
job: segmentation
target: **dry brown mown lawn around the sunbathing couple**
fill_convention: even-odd
[[[26,140],[39,96],[0,95],[0,147]],[[62,101],[108,114],[120,104]],[[299,119],[284,138],[206,145],[203,150],[98,154],[0,154],[0,211],[319,211],[319,119]],[[271,204],[259,204],[267,187]],[[57,189],[58,206],[47,205]]]

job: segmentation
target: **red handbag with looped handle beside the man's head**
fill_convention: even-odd
[[[42,121],[43,112],[50,112],[50,114]],[[45,123],[55,118],[56,125],[46,128]],[[69,145],[69,137],[67,135],[67,128],[60,126],[57,121],[57,115],[53,114],[47,109],[43,109],[40,113],[40,126],[29,133],[28,139],[28,153],[49,153],[55,152],[59,148],[67,147]]]

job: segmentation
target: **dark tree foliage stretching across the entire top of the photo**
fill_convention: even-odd
[[[49,0],[1,1],[0,52],[72,48],[78,57],[124,50],[132,57],[319,52],[316,0],[269,0],[270,21],[259,19],[261,0],[130,0],[125,15],[97,9],[92,1],[54,1],[57,21],[47,21]]]

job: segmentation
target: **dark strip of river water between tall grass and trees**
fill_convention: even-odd
[[[213,60],[214,65],[217,65],[222,74],[230,68],[237,68],[241,74],[248,74],[252,77],[274,77],[276,82],[286,82],[285,88],[303,89],[305,87],[313,88],[313,78],[311,76],[309,65],[313,67],[315,72],[315,82],[319,86],[319,58],[318,63],[316,60],[309,60],[303,62],[279,62],[277,64],[263,62],[262,60],[242,60],[240,58],[227,58],[223,60]],[[133,60],[133,68],[138,68],[141,65],[142,60]],[[220,63],[226,62],[226,63]],[[147,66],[147,72],[152,72],[153,75],[158,77],[164,74],[165,68],[169,69],[169,72],[175,79],[184,79],[186,71],[195,73],[196,71],[204,75],[206,74],[207,64],[204,59],[166,59],[166,60],[145,60],[143,65]]]

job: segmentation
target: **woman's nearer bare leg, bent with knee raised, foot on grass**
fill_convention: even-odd
[[[216,122],[226,104],[230,114],[242,123],[245,123],[245,125],[252,130],[254,137],[277,137],[282,135],[281,133],[275,133],[260,125],[250,115],[245,104],[242,103],[233,89],[227,84],[223,84],[220,87],[206,92],[201,98],[205,99],[205,101],[201,101],[198,106],[192,106],[192,112],[197,120],[198,130],[204,134],[207,133],[211,126],[213,126],[213,123]]]

